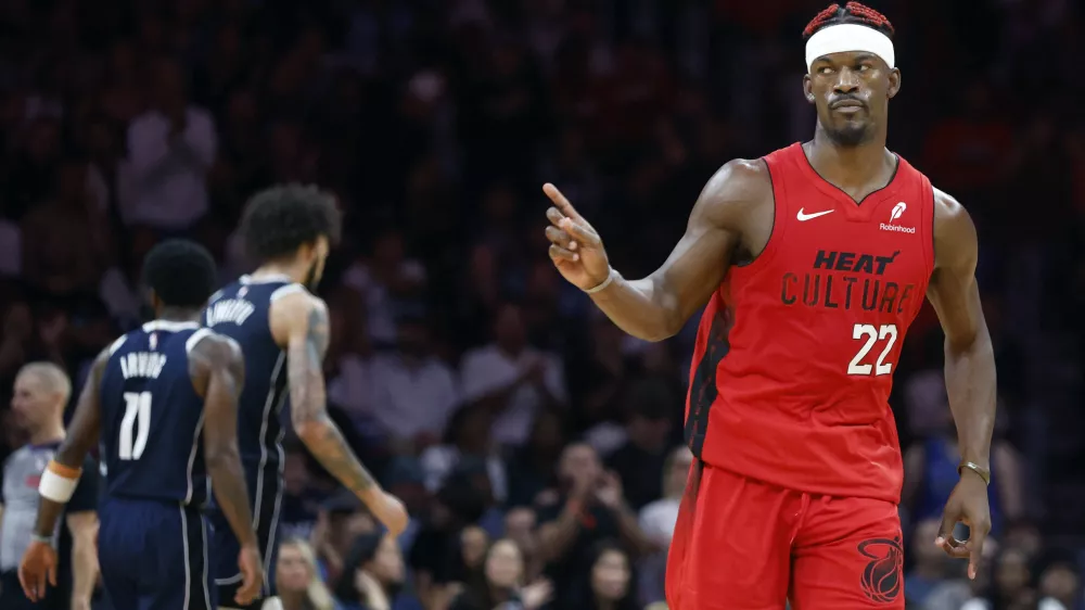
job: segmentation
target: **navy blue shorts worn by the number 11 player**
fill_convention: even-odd
[[[106,498],[98,558],[114,610],[215,610],[208,526],[195,508]]]

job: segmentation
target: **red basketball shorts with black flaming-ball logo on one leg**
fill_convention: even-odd
[[[671,610],[904,608],[896,506],[694,461],[667,558]]]

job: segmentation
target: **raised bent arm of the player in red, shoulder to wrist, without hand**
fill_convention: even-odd
[[[754,212],[771,198],[764,162],[728,162],[704,186],[666,262],[644,279],[615,281],[622,285],[592,295],[596,305],[635,336],[673,336],[719,287]]]

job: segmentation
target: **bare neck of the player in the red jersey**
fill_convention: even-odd
[[[832,141],[820,125],[814,130],[814,141],[806,149],[810,166],[829,182],[845,188],[865,186],[893,171],[895,160],[885,150],[885,134],[878,134],[867,142],[844,147]]]

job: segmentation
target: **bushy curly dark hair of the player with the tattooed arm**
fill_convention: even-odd
[[[246,253],[259,263],[285,258],[321,236],[337,242],[341,216],[331,193],[316,186],[280,185],[251,200],[241,218]]]

